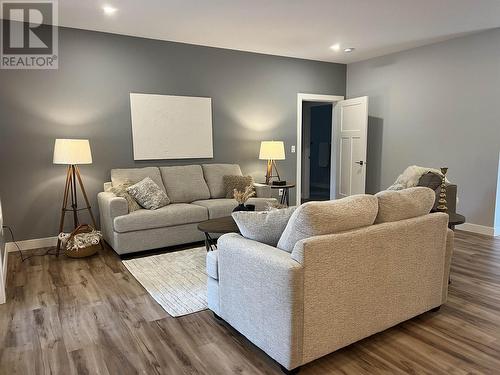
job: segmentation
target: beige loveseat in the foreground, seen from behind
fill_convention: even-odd
[[[438,308],[453,232],[433,204],[424,187],[305,203],[277,247],[225,234],[208,306],[285,372]]]

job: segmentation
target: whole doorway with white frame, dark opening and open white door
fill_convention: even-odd
[[[309,111],[308,106],[318,108]],[[304,116],[304,111],[309,111],[309,115]],[[307,125],[307,119],[311,121],[311,113],[321,123],[330,121],[329,138],[321,125],[313,126],[309,133],[307,129],[303,132],[303,122]],[[338,199],[365,193],[367,129],[367,96],[344,100],[343,96],[297,94],[297,205],[303,200]],[[311,145],[313,137],[315,142]],[[328,170],[329,180],[324,173]]]

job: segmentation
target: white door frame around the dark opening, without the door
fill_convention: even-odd
[[[303,102],[325,102],[332,104],[332,139],[335,139],[335,116],[334,107],[335,103],[344,100],[344,96],[339,95],[321,95],[321,94],[297,94],[297,175],[296,175],[296,204],[301,204],[302,195],[302,103]],[[332,142],[333,145],[333,142]],[[332,153],[333,155],[333,153]]]

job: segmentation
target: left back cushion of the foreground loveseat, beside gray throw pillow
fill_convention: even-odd
[[[277,247],[292,252],[295,244],[304,238],[372,225],[377,211],[377,198],[373,195],[304,203],[290,217]]]

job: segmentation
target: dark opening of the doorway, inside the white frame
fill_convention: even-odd
[[[332,103],[302,102],[302,203],[330,199],[332,111]]]

